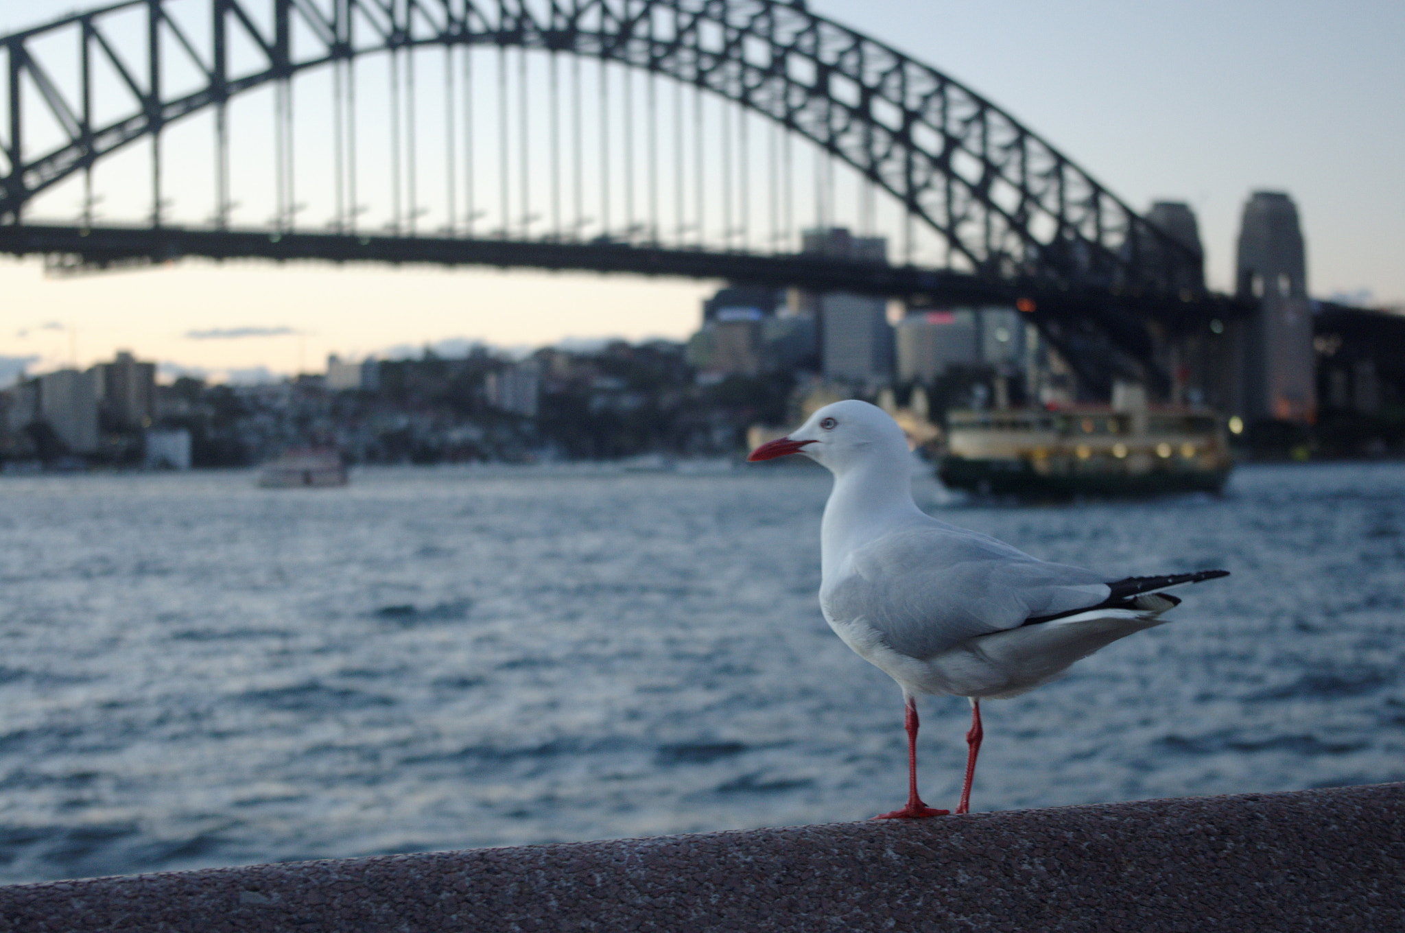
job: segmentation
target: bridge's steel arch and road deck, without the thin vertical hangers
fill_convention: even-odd
[[[103,267],[180,254],[222,259],[326,259],[596,268],[725,277],[884,294],[913,301],[1013,302],[1079,375],[1106,391],[1114,377],[1165,385],[1166,336],[1213,316],[1245,313],[1203,285],[1198,252],[1141,218],[1071,159],[954,79],[837,22],[776,0],[268,0],[267,25],[249,0],[209,0],[207,45],[191,41],[163,0],[126,0],[0,37],[0,252],[69,254]],[[145,11],[143,45],[117,42],[110,18]],[[45,42],[79,38],[76,81],[58,81]],[[301,37],[294,41],[295,32]],[[257,63],[232,69],[242,34]],[[160,164],[153,157],[150,228],[44,228],[25,205],[124,146],[155,138],[184,117],[223,108],[254,89],[374,53],[426,46],[540,49],[614,62],[674,79],[760,114],[811,141],[923,223],[948,247],[948,267],[816,263],[794,254],[722,249],[667,250],[658,243],[511,242],[464,237],[365,237],[294,233],[280,212],[273,232],[228,228],[228,191],[214,229],[162,223]],[[202,51],[204,49],[204,51]],[[163,93],[163,56],[184,55],[201,86]],[[96,60],[121,79],[131,112],[98,122]],[[126,62],[145,63],[145,70]],[[21,86],[30,89],[28,98]],[[65,89],[76,91],[65,93]],[[31,152],[24,108],[42,107],[65,142]],[[281,156],[280,156],[281,157]],[[281,194],[280,194],[281,197]],[[291,200],[291,198],[289,198]],[[91,229],[90,229],[91,228]],[[559,236],[559,235],[558,235]],[[239,253],[237,250],[244,250]],[[60,260],[62,264],[63,260]],[[851,267],[850,267],[851,266]]]

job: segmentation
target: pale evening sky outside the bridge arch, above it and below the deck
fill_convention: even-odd
[[[173,4],[207,0],[171,0]],[[251,6],[257,0],[251,0]],[[0,0],[0,34],[72,0]],[[811,0],[995,101],[1134,208],[1189,202],[1211,287],[1239,214],[1287,191],[1308,287],[1405,304],[1405,4]],[[684,339],[718,282],[185,260],[55,278],[0,257],[0,385],[128,348],[163,372],[256,378],[455,341]]]

